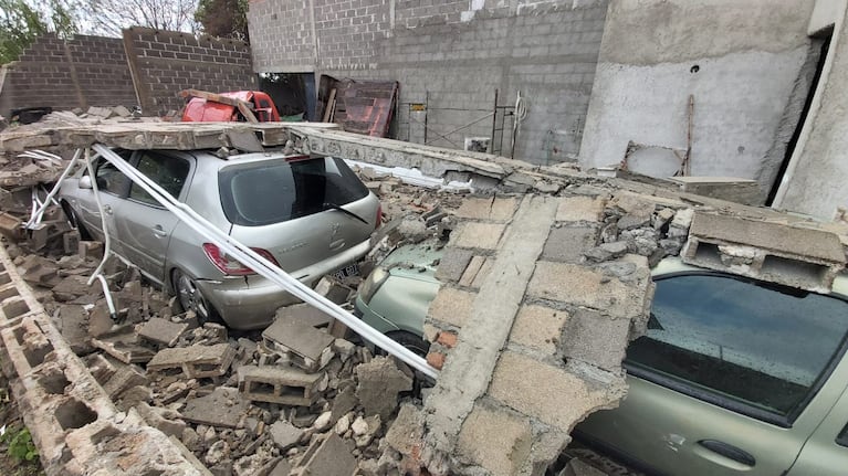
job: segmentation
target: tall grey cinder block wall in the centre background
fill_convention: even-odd
[[[426,103],[427,142],[462,148],[491,136],[495,89],[503,106],[520,91],[515,158],[553,163],[579,152],[606,3],[252,0],[248,19],[257,72],[398,81],[399,139],[423,141],[423,115],[410,120],[408,103]]]

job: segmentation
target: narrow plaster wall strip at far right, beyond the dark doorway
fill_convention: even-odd
[[[795,155],[775,205],[825,220],[848,208],[848,24],[845,0],[819,2],[810,30],[834,24],[834,36]],[[838,4],[841,3],[841,4]],[[824,8],[825,6],[827,8]],[[842,216],[842,220],[845,218]]]

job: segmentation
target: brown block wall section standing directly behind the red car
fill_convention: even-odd
[[[243,41],[135,27],[124,30],[124,46],[145,114],[178,110],[185,104],[178,93],[185,88],[257,87]]]

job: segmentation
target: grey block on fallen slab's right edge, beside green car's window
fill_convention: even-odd
[[[589,309],[577,309],[562,332],[562,352],[610,372],[618,372],[625,358],[630,320],[610,319]]]

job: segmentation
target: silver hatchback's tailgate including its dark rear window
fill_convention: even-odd
[[[368,240],[377,200],[341,159],[234,165],[219,173],[231,236],[295,273]]]

